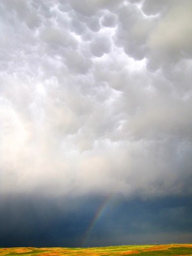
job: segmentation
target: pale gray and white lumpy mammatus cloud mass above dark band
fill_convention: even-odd
[[[4,1],[2,195],[190,195],[191,1]]]

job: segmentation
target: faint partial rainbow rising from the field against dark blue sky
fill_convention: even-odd
[[[111,193],[108,198],[100,205],[99,209],[97,209],[97,212],[95,213],[92,221],[90,222],[90,225],[88,226],[88,229],[86,230],[85,236],[83,238],[82,247],[86,246],[89,237],[92,234],[92,230],[97,224],[97,221],[101,218],[102,214],[106,211],[108,208],[108,205],[111,204],[111,201],[113,200],[115,196],[115,193]]]

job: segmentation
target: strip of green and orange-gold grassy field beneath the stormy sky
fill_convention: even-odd
[[[138,255],[138,256],[163,256],[163,255],[191,255],[192,244],[161,244],[161,245],[135,245],[135,246],[108,246],[94,248],[33,248],[16,247],[0,248],[0,255],[81,255],[81,256],[113,256],[113,255]]]

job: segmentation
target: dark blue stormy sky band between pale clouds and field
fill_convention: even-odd
[[[191,243],[191,196],[141,200],[8,196],[1,201],[0,246],[106,246]],[[88,232],[88,230],[90,230]]]

